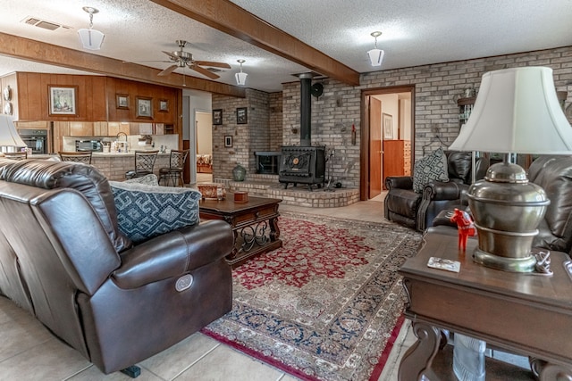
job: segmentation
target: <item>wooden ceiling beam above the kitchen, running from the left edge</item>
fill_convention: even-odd
[[[75,70],[107,75],[121,79],[132,79],[167,87],[189,88],[214,94],[244,98],[245,89],[197,77],[172,73],[157,77],[161,71],[137,63],[122,62],[103,55],[88,54],[62,46],[55,46],[29,38],[0,32],[0,54],[22,60],[46,63]],[[185,86],[183,86],[183,83]]]

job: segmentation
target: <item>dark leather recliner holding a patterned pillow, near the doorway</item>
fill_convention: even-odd
[[[388,192],[383,202],[385,219],[408,228],[424,231],[442,210],[467,204],[465,196],[472,182],[472,153],[445,151],[449,182],[433,181],[422,193],[413,190],[413,177],[385,178]],[[475,162],[475,178],[484,178],[489,160],[480,157]]]

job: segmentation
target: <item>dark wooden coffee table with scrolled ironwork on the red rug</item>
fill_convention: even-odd
[[[223,219],[231,225],[234,249],[226,261],[237,267],[249,258],[282,247],[279,203],[282,200],[263,197],[248,197],[248,202],[236,203],[229,194],[223,201],[202,200],[198,207],[201,219]]]

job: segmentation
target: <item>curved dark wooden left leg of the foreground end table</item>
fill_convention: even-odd
[[[431,363],[441,343],[441,329],[429,324],[416,321],[413,323],[413,333],[417,337],[403,355],[398,372],[399,381],[419,380],[426,370],[431,369]]]

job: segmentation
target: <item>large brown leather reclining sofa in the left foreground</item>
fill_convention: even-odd
[[[231,310],[230,226],[206,221],[133,245],[89,165],[0,158],[0,214],[0,293],[106,374]]]

